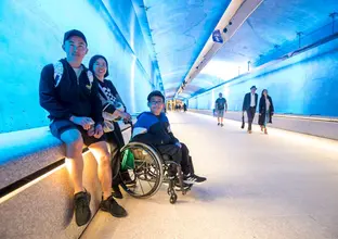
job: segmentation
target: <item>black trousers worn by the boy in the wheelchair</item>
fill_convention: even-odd
[[[187,175],[190,173],[194,174],[194,166],[192,158],[188,155],[187,147],[181,142],[181,148],[176,144],[165,144],[157,146],[157,150],[160,154],[169,155],[172,161],[180,164],[182,167],[183,174]]]

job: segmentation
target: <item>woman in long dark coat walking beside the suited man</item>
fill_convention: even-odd
[[[258,124],[261,127],[261,130],[264,130],[264,134],[268,135],[266,124],[272,124],[272,115],[274,113],[274,106],[271,97],[268,93],[266,89],[263,89],[262,96],[259,100],[259,117]]]

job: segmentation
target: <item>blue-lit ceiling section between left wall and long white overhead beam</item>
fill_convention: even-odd
[[[230,2],[143,1],[167,98],[176,93]]]

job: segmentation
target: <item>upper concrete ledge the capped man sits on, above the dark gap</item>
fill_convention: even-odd
[[[129,125],[120,124],[121,129]],[[49,127],[0,135],[0,189],[64,159],[65,147]]]

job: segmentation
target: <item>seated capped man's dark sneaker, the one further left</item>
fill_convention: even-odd
[[[87,224],[91,217],[90,193],[80,191],[74,196],[75,222],[80,227]]]

